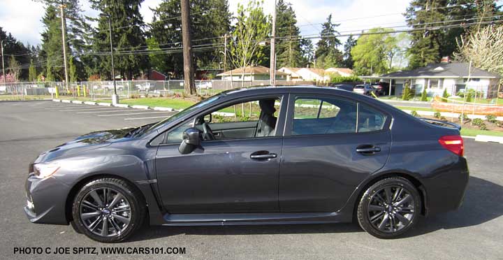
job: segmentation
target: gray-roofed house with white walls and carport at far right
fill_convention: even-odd
[[[444,59],[445,60],[445,59]],[[448,59],[447,59],[448,61]],[[401,95],[405,82],[410,82],[416,94],[426,88],[429,96],[440,96],[444,89],[455,95],[461,89],[475,89],[483,92],[485,98],[496,95],[497,85],[501,75],[484,71],[480,68],[461,62],[441,62],[428,64],[411,71],[395,71],[380,76],[362,76],[369,80],[381,80],[390,84],[389,95]]]

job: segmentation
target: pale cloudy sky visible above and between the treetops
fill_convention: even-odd
[[[145,0],[140,12],[145,22],[152,21],[152,10],[162,0]],[[286,0],[296,11],[301,35],[316,35],[321,31],[321,23],[332,14],[333,22],[339,23],[340,34],[357,33],[372,27],[396,27],[405,24],[405,8],[410,0]],[[89,7],[87,0],[81,0],[85,15],[96,17],[99,13]],[[229,9],[235,13],[238,3],[247,0],[229,0]],[[265,0],[265,13],[273,10],[274,1]],[[0,0],[0,27],[22,43],[36,45],[41,43],[41,22],[44,15],[43,3],[32,0]],[[345,41],[345,37],[340,39]],[[316,42],[316,39],[313,40]]]

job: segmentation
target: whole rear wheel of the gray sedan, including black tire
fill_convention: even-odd
[[[374,183],[360,198],[357,209],[358,224],[377,238],[401,236],[416,224],[420,214],[418,190],[401,177]]]

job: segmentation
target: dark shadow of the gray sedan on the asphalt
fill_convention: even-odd
[[[465,200],[459,210],[421,218],[418,225],[404,238],[421,236],[439,229],[458,229],[476,226],[503,215],[503,187],[488,180],[470,177]],[[249,226],[148,226],[130,241],[150,240],[187,235],[248,235],[248,234],[300,234],[300,233],[351,233],[363,232],[358,224],[292,224]]]

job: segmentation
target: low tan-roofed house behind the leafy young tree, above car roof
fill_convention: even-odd
[[[286,73],[282,71],[276,71],[276,80],[286,80]],[[270,80],[270,69],[265,66],[247,66],[244,68],[235,68],[232,71],[225,71],[224,73],[219,73],[217,76],[221,77],[222,80],[233,80],[233,81],[254,81],[254,80]]]

